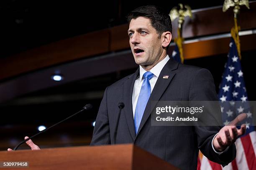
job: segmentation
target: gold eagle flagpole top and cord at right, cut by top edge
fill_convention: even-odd
[[[234,22],[235,22],[235,26],[231,28],[231,36],[233,37],[235,43],[236,43],[236,47],[237,47],[237,51],[238,51],[238,55],[239,58],[241,60],[241,48],[240,48],[240,40],[239,40],[239,35],[238,32],[240,31],[240,26],[237,25],[237,15],[240,12],[240,6],[241,5],[246,5],[246,7],[248,9],[250,9],[249,7],[249,1],[248,0],[225,0],[224,4],[223,4],[223,12],[226,12],[228,10],[228,8],[230,7],[234,7]]]

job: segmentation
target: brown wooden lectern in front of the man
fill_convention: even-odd
[[[3,161],[27,161],[24,170],[178,170],[132,144],[1,151]]]

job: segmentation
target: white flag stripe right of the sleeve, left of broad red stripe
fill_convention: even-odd
[[[238,170],[248,170],[246,156],[244,154],[241,138],[236,140],[236,163]]]

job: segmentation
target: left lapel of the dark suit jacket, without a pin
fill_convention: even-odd
[[[139,74],[139,69],[137,69],[137,71],[133,75],[128,77],[128,79],[124,82],[124,85],[123,85],[123,98],[124,98],[124,104],[125,104],[123,111],[125,114],[129,131],[131,133],[131,137],[133,138],[133,141],[135,140],[136,134],[135,134],[135,128],[134,128],[134,119],[133,119],[132,95],[133,95],[134,82],[138,74]]]

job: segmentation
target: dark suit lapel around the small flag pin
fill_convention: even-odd
[[[161,70],[160,75],[156,81],[156,85],[154,86],[154,89],[151,92],[151,95],[148,99],[148,103],[147,103],[145,111],[143,113],[137,136],[140,133],[141,128],[145,124],[146,120],[148,119],[148,117],[150,116],[151,112],[153,111],[153,109],[156,105],[156,102],[151,102],[151,101],[159,101],[160,97],[163,95],[164,91],[170,84],[172,78],[176,74],[173,72],[173,70],[176,70],[178,65],[179,65],[178,62],[176,62],[172,58],[170,58],[169,61],[166,63],[166,65]],[[164,79],[163,78],[164,76],[169,76],[169,77]],[[150,105],[150,104],[152,104],[152,105]]]

